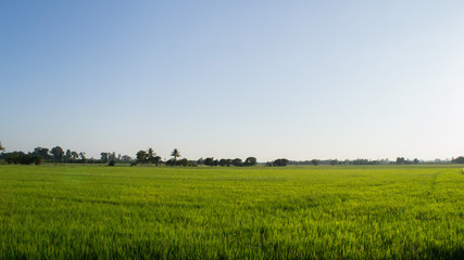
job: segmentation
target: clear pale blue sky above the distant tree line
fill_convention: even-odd
[[[135,156],[464,155],[464,1],[0,0],[0,141]]]

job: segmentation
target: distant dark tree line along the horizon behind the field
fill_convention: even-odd
[[[101,152],[100,158],[87,158],[85,152],[75,152],[71,150],[64,151],[60,146],[55,146],[51,150],[46,147],[36,147],[33,152],[24,153],[10,152],[5,153],[5,148],[0,142],[0,159],[3,159],[7,164],[22,164],[22,165],[41,165],[43,162],[62,162],[62,164],[108,164],[114,166],[115,164],[130,164],[136,165],[152,165],[152,166],[210,166],[210,167],[250,167],[255,166],[258,160],[255,157],[247,157],[244,160],[240,158],[221,158],[215,159],[214,157],[200,158],[198,160],[189,160],[181,158],[180,151],[174,148],[171,153],[172,158],[162,160],[160,156],[154,153],[153,148],[146,151],[140,150],[136,153],[135,158],[128,155],[121,155],[115,152]],[[417,158],[409,159],[404,157],[397,157],[396,160],[388,159],[311,159],[311,160],[288,160],[286,158],[278,158],[273,161],[267,161],[264,166],[268,167],[281,167],[287,165],[417,165],[417,164],[464,164],[464,156],[452,158],[451,160],[418,160]]]

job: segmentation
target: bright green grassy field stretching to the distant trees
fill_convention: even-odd
[[[461,170],[0,166],[0,259],[464,259]]]

